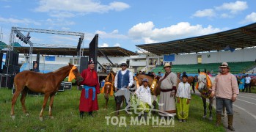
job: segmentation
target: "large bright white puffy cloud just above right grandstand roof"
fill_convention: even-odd
[[[134,40],[143,40],[145,43],[158,43],[169,40],[177,40],[186,37],[196,37],[205,34],[221,32],[222,29],[213,28],[211,25],[202,27],[202,25],[191,25],[188,22],[180,22],[176,25],[155,28],[153,22],[138,23],[129,29],[129,36]]]

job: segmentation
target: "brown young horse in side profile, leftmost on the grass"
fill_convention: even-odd
[[[24,70],[21,73],[18,73],[14,78],[14,84],[15,84],[15,93],[12,97],[12,110],[11,110],[11,116],[12,119],[15,119],[14,114],[14,107],[16,100],[18,98],[18,95],[21,94],[21,105],[24,114],[26,116],[29,116],[29,114],[26,111],[25,106],[25,98],[26,93],[28,92],[28,89],[30,89],[33,92],[42,92],[44,93],[44,100],[43,100],[43,106],[42,110],[40,111],[40,120],[43,121],[43,110],[45,109],[45,105],[47,103],[48,98],[50,97],[50,104],[49,104],[49,117],[52,117],[51,109],[54,103],[54,95],[59,89],[60,83],[69,75],[75,76],[76,81],[80,83],[83,81],[84,78],[81,77],[80,73],[78,72],[77,68],[74,65],[67,65],[65,67],[59,68],[59,70],[56,70],[51,73],[36,73],[34,71]],[[72,74],[73,73],[73,74]]]

